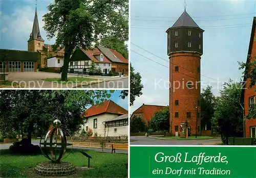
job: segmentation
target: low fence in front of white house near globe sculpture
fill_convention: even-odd
[[[115,142],[115,141],[128,141],[128,136],[118,137],[72,137],[73,141],[96,141],[96,142]]]

